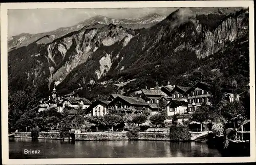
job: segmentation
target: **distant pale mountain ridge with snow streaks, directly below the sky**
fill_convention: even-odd
[[[102,25],[109,25],[113,23],[117,26],[122,26],[131,29],[141,29],[141,28],[149,28],[155,25],[157,22],[163,20],[165,16],[159,14],[149,14],[142,18],[128,18],[128,19],[113,19],[109,17],[105,17],[102,15],[96,15],[87,20],[79,22],[78,24],[67,27],[67,28],[59,28],[57,30],[47,32],[47,33],[39,33],[39,34],[29,34],[22,33],[17,36],[13,36],[8,40],[8,50],[12,50],[15,48],[19,48],[20,46],[27,46],[30,43],[50,43],[54,39],[57,39],[63,35],[68,33],[78,31],[81,28],[89,25],[94,25],[95,23],[99,23]]]

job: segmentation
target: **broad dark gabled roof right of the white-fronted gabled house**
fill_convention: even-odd
[[[109,105],[114,105],[114,103],[116,103],[118,100],[120,101],[124,101],[127,104],[133,105],[133,106],[148,106],[148,104],[141,98],[137,98],[137,97],[127,97],[127,96],[118,96],[116,97],[116,99],[114,99]]]

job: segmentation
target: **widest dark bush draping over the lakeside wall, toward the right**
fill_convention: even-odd
[[[187,141],[190,140],[191,134],[187,126],[178,125],[170,127],[170,140]]]

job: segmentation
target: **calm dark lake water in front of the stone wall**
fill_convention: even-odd
[[[24,149],[40,154],[24,154]],[[61,141],[28,138],[9,139],[9,158],[125,158],[222,156],[205,143],[164,141]]]

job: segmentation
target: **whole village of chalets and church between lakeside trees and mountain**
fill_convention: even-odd
[[[56,107],[58,112],[62,112],[65,107],[69,107],[69,119],[75,116],[77,108],[83,109],[83,117],[104,116],[110,114],[110,109],[134,108],[139,111],[148,112],[151,116],[165,111],[166,121],[172,122],[173,116],[179,115],[178,123],[188,121],[192,114],[200,109],[201,105],[212,106],[212,88],[213,86],[205,82],[198,82],[192,87],[170,85],[169,82],[164,86],[154,88],[138,88],[128,92],[112,93],[107,100],[89,101],[86,98],[77,96],[62,97],[57,95],[54,87],[52,96],[47,100],[42,100],[39,104],[38,112]],[[227,102],[239,101],[240,89],[231,85],[222,85],[221,92],[224,93],[224,100]],[[190,121],[190,124],[198,125],[191,127],[191,131],[202,132],[202,123]],[[143,124],[142,124],[143,125]],[[97,130],[98,131],[98,130]]]

